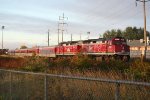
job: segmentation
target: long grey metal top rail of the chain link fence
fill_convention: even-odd
[[[148,82],[135,82],[135,81],[112,80],[112,79],[103,79],[103,78],[77,77],[77,76],[56,75],[56,74],[48,74],[48,73],[35,73],[35,72],[15,71],[15,70],[6,70],[6,69],[0,69],[0,71],[11,72],[11,73],[19,73],[19,74],[30,74],[30,75],[41,75],[41,76],[49,76],[49,77],[58,77],[58,78],[66,78],[66,79],[76,79],[76,80],[88,80],[88,81],[97,81],[97,82],[116,83],[116,84],[150,86],[150,83],[148,83]]]

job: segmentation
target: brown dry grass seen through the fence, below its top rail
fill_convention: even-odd
[[[6,73],[5,73],[6,74]],[[12,74],[12,98],[17,100],[44,99],[44,76]],[[0,96],[9,99],[9,73],[0,79]],[[114,100],[116,84],[47,77],[48,100]],[[120,85],[120,98],[146,100],[149,88],[145,86]]]

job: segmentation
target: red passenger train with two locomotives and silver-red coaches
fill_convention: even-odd
[[[103,60],[115,58],[128,61],[130,59],[130,47],[123,37],[67,41],[54,46],[9,50],[8,53],[15,56],[35,55],[50,58],[71,57],[83,54]]]

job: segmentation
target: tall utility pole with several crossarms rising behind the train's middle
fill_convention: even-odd
[[[65,26],[65,24],[67,24],[67,23],[65,23],[65,19],[67,19],[68,20],[68,17],[65,17],[65,15],[64,15],[64,13],[63,13],[63,16],[59,16],[59,21],[61,21],[61,22],[59,22],[59,26],[61,25],[62,27],[61,27],[61,32],[62,32],[62,42],[63,42],[63,38],[64,38],[64,36],[63,36],[63,34],[64,34],[64,26]]]

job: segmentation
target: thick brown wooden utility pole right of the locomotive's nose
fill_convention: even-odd
[[[146,60],[147,33],[146,33],[146,9],[145,9],[145,5],[146,5],[146,2],[148,2],[150,0],[136,0],[136,5],[137,5],[137,1],[143,3],[143,11],[144,11],[144,43],[145,43],[145,47],[144,47],[144,52],[142,53],[142,56],[143,56],[142,59]]]

